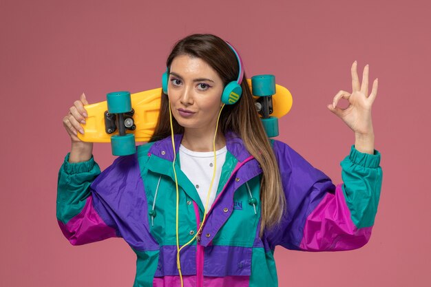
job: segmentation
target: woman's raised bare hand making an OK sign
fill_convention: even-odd
[[[372,91],[368,96],[368,70],[369,67],[364,67],[362,83],[359,83],[357,75],[357,61],[352,65],[352,93],[339,91],[334,96],[333,104],[328,105],[328,109],[339,116],[341,120],[355,131],[356,136],[372,136],[371,107],[377,96],[378,79],[372,83]],[[348,107],[341,109],[337,107],[337,103],[341,98],[348,100]]]

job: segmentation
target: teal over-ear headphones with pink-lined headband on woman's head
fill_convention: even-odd
[[[226,42],[227,43],[227,42]],[[241,97],[242,94],[242,78],[244,77],[244,70],[242,69],[242,60],[240,55],[235,51],[235,49],[232,47],[231,44],[227,43],[229,47],[231,47],[232,51],[235,53],[236,59],[238,60],[238,66],[240,67],[240,72],[238,73],[238,79],[236,81],[232,81],[231,83],[228,83],[226,87],[223,89],[222,93],[222,103],[226,105],[233,105],[234,103],[238,102],[238,100]],[[166,72],[162,74],[162,89],[163,93],[167,94],[167,85],[169,83],[169,75],[167,74],[167,68]]]

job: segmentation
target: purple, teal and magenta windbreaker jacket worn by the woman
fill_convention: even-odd
[[[181,135],[176,136],[176,151]],[[354,146],[341,161],[335,186],[291,147],[273,141],[287,213],[264,236],[260,230],[262,169],[242,140],[227,136],[218,191],[199,241],[180,253],[187,286],[277,286],[275,246],[299,251],[344,251],[370,239],[381,190],[380,153]],[[176,266],[176,187],[171,138],[137,148],[101,173],[93,159],[59,171],[57,218],[74,245],[123,237],[137,256],[134,287],[180,286]],[[191,240],[204,206],[180,170],[180,245]],[[209,170],[210,172],[211,170]],[[211,171],[212,172],[212,171]]]

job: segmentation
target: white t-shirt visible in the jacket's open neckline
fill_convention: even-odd
[[[215,193],[217,193],[222,167],[224,160],[226,160],[226,153],[226,146],[215,151],[217,156],[217,170],[215,171],[213,187],[209,195],[207,212],[215,200]],[[183,145],[180,145],[180,166],[182,172],[185,173],[187,178],[189,178],[191,183],[196,187],[196,191],[199,193],[202,205],[205,207],[205,204],[207,203],[209,184],[211,184],[214,172],[214,152],[191,151]]]

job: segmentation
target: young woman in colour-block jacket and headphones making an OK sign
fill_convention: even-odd
[[[154,136],[102,173],[92,143],[76,136],[85,95],[63,118],[72,149],[59,172],[57,217],[72,244],[123,237],[138,258],[134,286],[262,287],[277,286],[277,245],[343,251],[368,242],[382,180],[371,121],[377,80],[368,96],[368,65],[359,83],[353,63],[353,92],[328,105],[356,137],[337,186],[266,137],[240,56],[222,39],[178,41],[163,78]],[[242,95],[224,105],[231,82]]]

